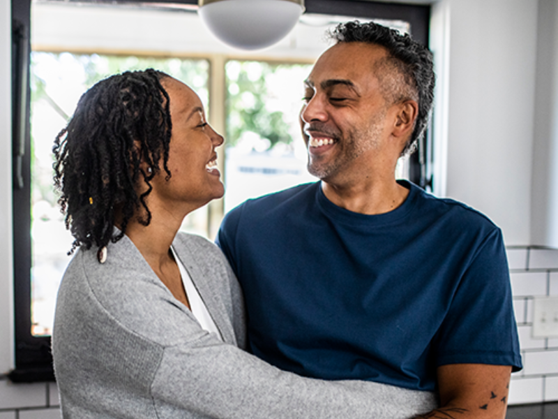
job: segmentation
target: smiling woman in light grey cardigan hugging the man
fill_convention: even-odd
[[[57,136],[55,184],[80,248],[52,350],[65,418],[408,418],[384,386],[281,372],[244,352],[241,291],[217,247],[177,233],[223,196],[197,95],[164,73],[114,75]],[[240,348],[239,348],[240,347]],[[404,409],[405,410],[405,409]],[[399,415],[399,416],[398,416]]]

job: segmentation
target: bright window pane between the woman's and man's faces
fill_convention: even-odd
[[[299,112],[310,64],[228,61],[225,212],[243,200],[316,180]]]

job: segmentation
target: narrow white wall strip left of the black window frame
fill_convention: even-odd
[[[13,367],[10,21],[10,0],[0,0],[0,374]]]

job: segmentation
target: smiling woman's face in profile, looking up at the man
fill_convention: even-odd
[[[172,136],[169,143],[167,166],[171,177],[165,179],[165,170],[153,178],[153,194],[163,200],[167,210],[173,205],[187,212],[220,198],[225,193],[217,169],[216,147],[223,137],[206,122],[202,101],[195,92],[174,78],[165,78],[161,84],[169,94]]]

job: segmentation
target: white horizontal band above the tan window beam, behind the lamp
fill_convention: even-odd
[[[153,51],[169,56],[226,54],[227,57],[288,57],[312,62],[328,46],[323,39],[327,25],[319,22],[317,27],[297,25],[289,36],[264,51],[246,52],[218,41],[195,13],[125,6],[68,7],[52,3],[36,3],[31,13],[31,44],[37,50],[67,48],[125,54]],[[165,50],[161,50],[161,45],[165,45]]]

